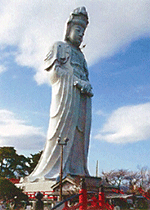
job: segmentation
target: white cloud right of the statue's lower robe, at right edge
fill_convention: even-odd
[[[118,108],[95,138],[118,144],[150,139],[150,103]]]

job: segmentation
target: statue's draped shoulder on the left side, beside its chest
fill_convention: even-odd
[[[70,55],[71,48],[66,42],[55,42],[44,60],[48,65],[46,70],[49,70],[53,66],[55,61],[60,64],[66,63]]]

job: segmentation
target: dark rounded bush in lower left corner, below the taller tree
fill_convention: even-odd
[[[11,200],[16,198],[18,201],[27,200],[28,196],[25,195],[21,189],[17,188],[6,178],[0,178],[0,199]]]

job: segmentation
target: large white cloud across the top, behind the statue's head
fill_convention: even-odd
[[[149,0],[1,0],[1,48],[17,46],[17,63],[34,68],[39,84],[46,82],[44,56],[54,41],[63,39],[69,13],[81,5],[87,7],[90,16],[84,39],[89,63],[150,35]]]

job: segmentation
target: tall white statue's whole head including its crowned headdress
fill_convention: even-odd
[[[75,9],[67,22],[67,31],[65,40],[71,42],[72,45],[79,47],[84,31],[88,25],[88,15],[85,7]]]

